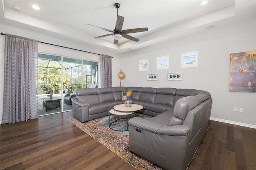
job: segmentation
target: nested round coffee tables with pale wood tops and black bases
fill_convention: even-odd
[[[112,130],[121,131],[121,132],[129,130],[128,115],[131,115],[134,113],[134,111],[139,111],[141,109],[143,109],[143,106],[136,105],[136,104],[132,104],[131,107],[126,107],[124,104],[114,106],[114,109],[111,109],[109,111],[110,113],[109,128]],[[111,115],[114,115],[114,118],[115,118],[114,122],[112,122]],[[118,119],[116,119],[116,116],[118,116]],[[120,116],[126,116],[126,117],[122,118]],[[126,121],[126,128],[124,127],[124,129],[120,130],[120,129],[114,129],[111,127],[113,123],[116,123],[118,121]]]

